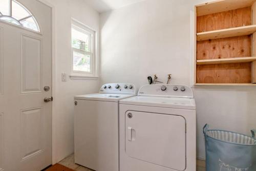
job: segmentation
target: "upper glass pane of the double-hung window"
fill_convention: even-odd
[[[89,34],[80,32],[72,28],[72,47],[75,49],[80,49],[83,51],[91,52],[90,50],[90,40]]]

